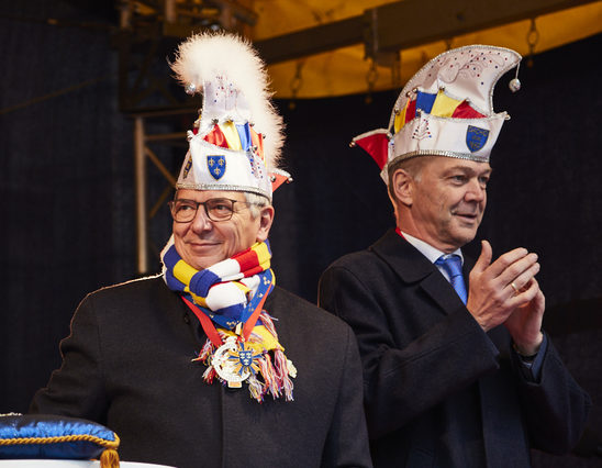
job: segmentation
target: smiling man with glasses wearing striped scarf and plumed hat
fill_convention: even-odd
[[[271,197],[287,175],[263,64],[216,34],[182,44],[172,68],[203,107],[163,274],[82,301],[32,411],[103,423],[134,461],[371,466],[352,330],[275,285]]]

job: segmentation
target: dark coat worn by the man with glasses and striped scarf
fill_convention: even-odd
[[[163,278],[89,294],[63,365],[31,411],[83,417],[121,438],[122,460],[189,467],[371,466],[352,330],[276,287],[265,310],[298,370],[294,401],[202,379],[197,317]]]

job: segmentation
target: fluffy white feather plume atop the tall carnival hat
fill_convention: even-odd
[[[283,144],[283,123],[270,98],[265,64],[250,43],[227,33],[201,33],[180,44],[171,64],[178,80],[198,91],[215,77],[227,77],[243,93],[250,110],[254,130],[264,135],[265,164],[268,170],[277,168]]]

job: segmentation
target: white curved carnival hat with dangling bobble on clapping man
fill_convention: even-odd
[[[454,48],[436,56],[399,94],[389,129],[358,135],[352,145],[372,156],[386,183],[388,167],[400,159],[448,156],[488,163],[502,124],[510,119],[506,112],[493,111],[493,88],[521,58],[512,49],[490,45]],[[521,88],[517,78],[510,88]]]

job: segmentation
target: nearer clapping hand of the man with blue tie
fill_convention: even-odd
[[[481,255],[470,271],[466,303],[486,332],[504,323],[516,308],[529,303],[539,291],[533,281],[539,271],[536,254],[520,247],[506,252],[493,263],[491,259],[491,245],[482,241]]]

